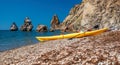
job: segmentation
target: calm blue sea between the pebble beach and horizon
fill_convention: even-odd
[[[26,45],[36,44],[39,41],[35,38],[36,36],[51,36],[59,35],[60,31],[55,32],[22,32],[22,31],[9,31],[0,30],[0,52],[19,48]]]

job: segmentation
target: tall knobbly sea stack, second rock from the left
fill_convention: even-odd
[[[32,31],[33,25],[29,17],[26,17],[24,20],[24,24],[21,26],[21,31]]]

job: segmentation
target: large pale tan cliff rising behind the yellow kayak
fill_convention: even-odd
[[[71,9],[61,25],[70,31],[120,29],[120,0],[83,0]]]

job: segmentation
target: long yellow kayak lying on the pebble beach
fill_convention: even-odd
[[[70,33],[65,35],[56,35],[56,36],[43,36],[36,37],[39,41],[49,41],[49,40],[57,40],[57,39],[65,39],[65,38],[80,38],[85,36],[93,36],[107,31],[108,28],[103,28],[100,30],[88,31],[88,32],[79,32],[79,33]]]

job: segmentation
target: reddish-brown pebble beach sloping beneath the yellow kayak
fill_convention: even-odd
[[[120,31],[40,42],[0,53],[0,65],[120,65]]]

